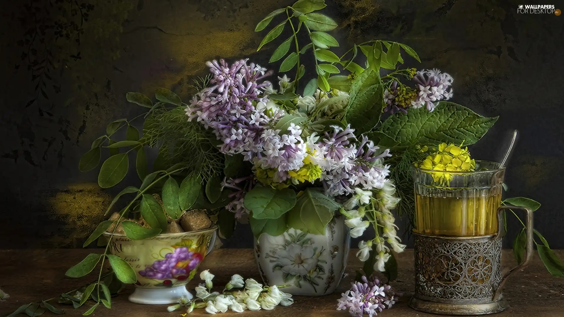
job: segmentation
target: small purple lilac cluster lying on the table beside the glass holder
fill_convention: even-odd
[[[362,281],[351,283],[351,289],[341,294],[337,310],[349,310],[353,316],[367,314],[372,317],[398,301],[399,294],[391,290],[390,285],[380,284],[377,278],[368,280],[366,276],[362,277]]]

